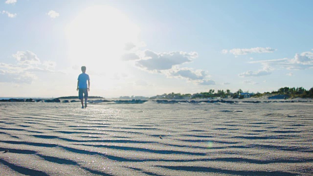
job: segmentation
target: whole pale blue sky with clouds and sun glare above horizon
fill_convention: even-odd
[[[313,87],[312,0],[0,0],[0,97]]]

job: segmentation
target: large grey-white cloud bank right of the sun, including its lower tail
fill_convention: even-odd
[[[134,45],[129,44],[132,48]],[[197,85],[214,85],[207,71],[194,70],[193,68],[180,68],[182,64],[190,63],[198,57],[197,52],[162,52],[151,50],[126,53],[122,56],[123,61],[134,60],[134,65],[151,73],[164,74],[168,78],[184,79]]]

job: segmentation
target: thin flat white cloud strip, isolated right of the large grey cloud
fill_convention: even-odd
[[[270,47],[234,48],[234,49],[230,49],[229,51],[226,49],[222,50],[224,54],[229,52],[229,53],[232,53],[233,55],[246,55],[250,53],[270,53],[274,51],[276,51],[276,49],[273,49]]]

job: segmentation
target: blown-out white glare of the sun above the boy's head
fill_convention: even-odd
[[[107,73],[120,69],[125,44],[135,43],[138,34],[138,27],[117,9],[88,7],[66,28],[71,64]]]

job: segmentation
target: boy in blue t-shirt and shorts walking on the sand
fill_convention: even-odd
[[[80,102],[82,103],[82,109],[84,109],[84,98],[85,98],[85,108],[87,108],[87,99],[88,99],[90,81],[89,81],[89,75],[85,73],[86,66],[82,66],[82,72],[83,73],[81,73],[78,76],[76,90],[78,90],[78,98],[80,99]],[[87,87],[87,81],[88,81],[88,87]]]

